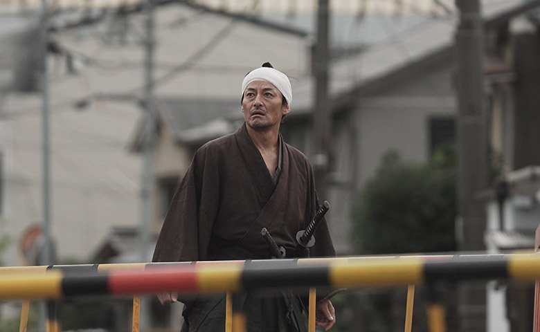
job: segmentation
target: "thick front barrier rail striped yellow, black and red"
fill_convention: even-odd
[[[0,299],[233,293],[257,288],[354,288],[540,277],[540,256],[440,255],[0,268]],[[37,273],[38,271],[46,273]]]

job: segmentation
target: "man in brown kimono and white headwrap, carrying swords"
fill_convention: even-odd
[[[244,124],[195,153],[165,216],[153,261],[269,259],[262,227],[285,247],[287,257],[296,257],[296,232],[311,221],[318,199],[309,161],[279,133],[291,102],[289,78],[269,63],[244,77]],[[312,257],[335,255],[326,222],[315,238]],[[248,331],[305,331],[298,314],[302,304],[290,294],[246,295]],[[177,302],[178,294],[159,299]],[[186,304],[182,331],[224,330],[224,296],[181,300]],[[334,325],[330,299],[318,301],[316,322],[326,330]]]

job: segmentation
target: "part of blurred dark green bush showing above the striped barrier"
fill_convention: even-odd
[[[456,155],[444,147],[427,163],[388,152],[359,196],[352,243],[359,253],[455,249]]]

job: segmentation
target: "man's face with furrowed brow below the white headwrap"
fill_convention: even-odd
[[[255,130],[270,129],[280,125],[281,118],[289,113],[289,104],[282,102],[280,91],[267,81],[253,81],[244,91],[242,113],[246,124]]]

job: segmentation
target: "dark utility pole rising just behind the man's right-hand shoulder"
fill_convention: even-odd
[[[314,50],[315,109],[313,115],[315,187],[321,200],[327,197],[329,162],[331,154],[332,113],[328,98],[328,26],[330,13],[328,0],[318,0],[317,42]]]

